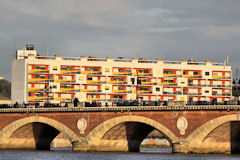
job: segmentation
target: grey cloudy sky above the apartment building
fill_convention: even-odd
[[[240,0],[0,0],[0,75],[39,54],[223,62],[240,69]]]

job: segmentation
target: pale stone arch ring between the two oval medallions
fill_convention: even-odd
[[[172,143],[177,142],[178,138],[176,135],[171,132],[169,129],[167,129],[165,126],[160,124],[159,122],[152,120],[147,117],[143,116],[119,116],[115,117],[109,120],[104,121],[100,125],[98,125],[96,128],[94,128],[87,136],[86,140],[91,145],[98,145],[101,138],[104,136],[107,131],[109,131],[114,126],[124,123],[124,122],[140,122],[143,124],[147,124],[160,132],[162,132]]]

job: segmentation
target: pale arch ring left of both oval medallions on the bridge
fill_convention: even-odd
[[[34,122],[47,124],[55,129],[57,129],[58,131],[62,132],[64,135],[66,135],[67,139],[70,140],[70,142],[78,140],[78,136],[72,130],[70,130],[67,126],[65,126],[64,124],[62,124],[56,120],[53,120],[53,119],[50,119],[47,117],[42,117],[42,116],[31,116],[31,117],[16,120],[16,121],[10,123],[9,125],[7,125],[6,127],[4,127],[0,131],[0,137],[2,139],[10,138],[11,135],[17,129],[19,129],[20,127],[22,127],[26,124],[34,123]]]

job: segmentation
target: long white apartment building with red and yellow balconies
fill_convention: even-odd
[[[231,66],[210,61],[62,57],[17,50],[12,102],[229,101]]]

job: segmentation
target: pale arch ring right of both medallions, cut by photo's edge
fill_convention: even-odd
[[[198,127],[186,139],[190,145],[201,145],[203,140],[217,127],[231,121],[240,121],[240,115],[230,114],[212,119]]]

